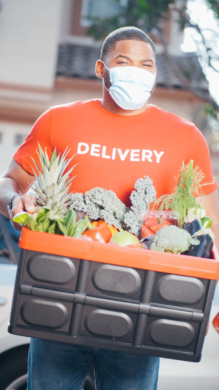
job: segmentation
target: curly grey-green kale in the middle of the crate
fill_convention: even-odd
[[[122,228],[138,236],[142,213],[149,209],[150,203],[156,197],[156,191],[148,176],[138,179],[134,188],[130,195],[131,209],[126,207],[113,191],[100,187],[92,188],[84,195],[72,193],[70,207],[84,211],[92,220],[103,219],[116,229]]]

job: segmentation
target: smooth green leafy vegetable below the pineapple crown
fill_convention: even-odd
[[[30,230],[38,232],[56,233],[63,236],[81,237],[82,233],[90,226],[88,216],[76,222],[77,216],[73,209],[69,209],[64,217],[57,220],[50,218],[51,211],[42,207],[39,213],[33,215],[26,211],[16,214],[13,218],[14,222],[26,226]]]

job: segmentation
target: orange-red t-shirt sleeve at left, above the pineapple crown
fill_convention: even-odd
[[[40,166],[37,154],[37,150],[39,152],[38,142],[43,151],[46,148],[46,152],[49,158],[51,158],[53,153],[51,146],[51,108],[37,119],[24,143],[13,155],[14,160],[32,175],[33,170],[31,167],[34,168],[32,158]]]

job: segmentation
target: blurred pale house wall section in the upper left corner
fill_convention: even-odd
[[[0,83],[53,86],[63,1],[1,1]]]

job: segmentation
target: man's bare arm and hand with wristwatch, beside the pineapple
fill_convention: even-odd
[[[26,195],[33,181],[33,175],[26,172],[16,161],[11,160],[9,167],[0,179],[0,212],[3,215],[9,216],[7,204],[16,194],[22,194],[22,196],[17,196],[12,201],[11,220],[15,214],[22,211],[34,211],[33,197]],[[14,227],[20,229],[20,225],[17,223],[14,223]]]

